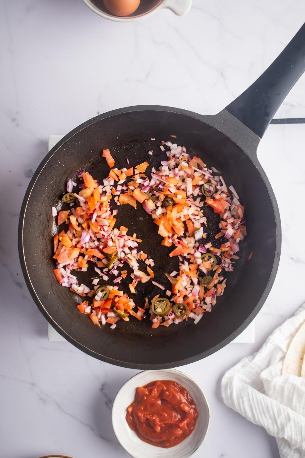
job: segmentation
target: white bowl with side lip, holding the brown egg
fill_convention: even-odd
[[[183,14],[186,14],[192,6],[192,0],[141,0],[139,8],[134,11],[133,14],[121,17],[110,13],[103,4],[102,0],[83,1],[99,16],[118,22],[139,21],[139,19],[149,17],[161,8],[168,8],[178,16],[182,16]]]

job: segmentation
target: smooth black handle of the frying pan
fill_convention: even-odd
[[[225,109],[262,138],[278,107],[305,71],[305,24],[264,73]]]

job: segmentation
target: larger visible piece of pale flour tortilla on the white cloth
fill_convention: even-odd
[[[292,339],[284,359],[282,375],[296,375],[305,378],[305,322]]]

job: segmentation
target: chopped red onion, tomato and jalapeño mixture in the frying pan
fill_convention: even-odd
[[[102,156],[110,170],[103,183],[98,184],[82,170],[77,174],[80,184],[69,180],[67,193],[62,197],[70,209],[57,214],[56,207],[52,207],[58,226],[67,224],[54,236],[54,274],[62,286],[81,297],[92,298],[83,300],[77,308],[97,326],[109,323],[114,329],[119,320],[127,322],[130,316],[142,320],[146,309],[150,309],[153,328],[178,324],[189,317],[196,324],[224,293],[223,270],[233,272],[233,260],[239,259],[236,253],[246,236],[246,226],[244,208],[234,187],[229,187],[230,193],[219,172],[208,169],[200,158],[191,158],[185,147],[171,142],[162,142],[160,147],[167,159],[150,173],[148,162],[128,169],[114,168],[114,158],[104,149]],[[80,190],[73,192],[76,186]],[[158,294],[150,301],[146,298],[145,304],[135,304],[129,297],[136,293],[139,282],[151,281],[162,291],[166,287],[154,281],[154,261],[139,250],[142,240],[136,234],[128,234],[124,226],[115,227],[119,210],[111,210],[112,199],[116,206],[131,205],[137,209],[140,204],[153,218],[162,237],[161,245],[172,247],[169,256],[177,256],[179,267],[165,274],[171,283],[171,290],[165,292],[167,297]],[[212,242],[204,243],[205,206],[219,214],[219,233],[214,238],[225,239],[219,248]],[[146,272],[140,270],[140,261],[146,264]],[[85,272],[89,262],[94,264],[97,274],[91,287],[79,284],[71,273]],[[119,288],[128,275],[125,265],[132,269],[128,294]],[[115,279],[110,281],[109,275]],[[100,280],[105,284],[99,284]]]

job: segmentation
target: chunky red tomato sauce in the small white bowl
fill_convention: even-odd
[[[198,410],[186,388],[172,380],[137,387],[126,421],[139,438],[156,447],[174,447],[195,428]]]

